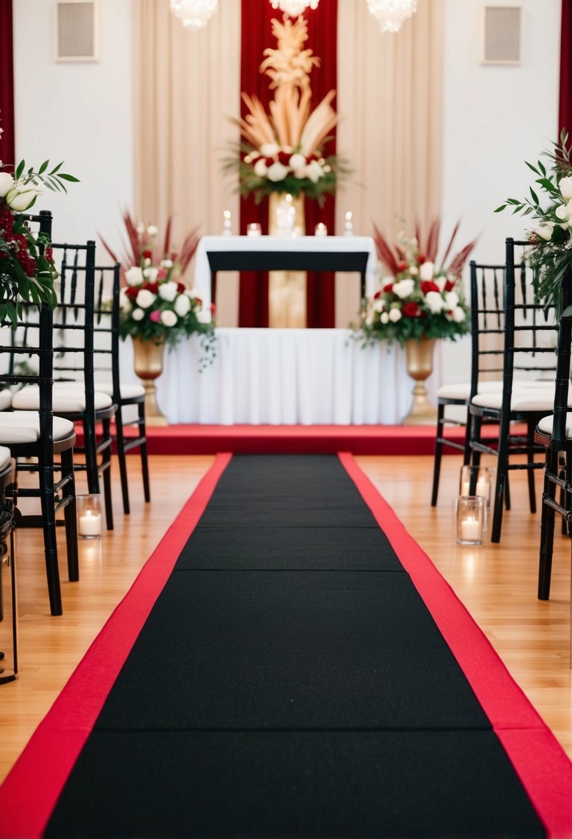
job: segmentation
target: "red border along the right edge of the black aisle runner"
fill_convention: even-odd
[[[497,652],[350,453],[340,460],[413,580],[549,836],[572,836],[572,763]]]

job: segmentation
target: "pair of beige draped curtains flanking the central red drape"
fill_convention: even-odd
[[[220,233],[224,210],[238,230],[236,180],[221,169],[238,139],[241,3],[218,7],[191,32],[168,0],[133,0],[134,211],[159,226],[173,214],[179,237],[197,224]],[[439,213],[444,0],[418,7],[398,34],[382,34],[366,0],[338,0],[337,148],[353,170],[336,197],[338,233],[346,211],[361,235],[374,221],[395,233]],[[218,322],[236,325],[236,277],[221,276],[218,292]],[[338,277],[336,326],[355,319],[358,298]]]

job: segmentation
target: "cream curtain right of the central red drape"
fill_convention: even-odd
[[[354,231],[388,235],[440,211],[444,0],[419,0],[397,34],[382,34],[366,0],[338,0],[337,148],[353,173],[336,195],[336,230],[351,211]],[[359,310],[341,275],[336,326]]]

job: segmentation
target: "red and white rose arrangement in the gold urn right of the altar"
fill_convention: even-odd
[[[456,338],[470,331],[461,273],[476,241],[450,256],[459,224],[437,263],[440,222],[429,227],[423,247],[419,227],[414,237],[401,232],[392,246],[375,227],[377,255],[382,263],[381,287],[364,300],[358,334],[366,343],[406,341],[421,338]],[[388,273],[387,273],[388,272]]]

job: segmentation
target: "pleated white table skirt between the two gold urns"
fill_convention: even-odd
[[[413,380],[400,347],[361,349],[342,329],[217,329],[216,359],[200,373],[196,336],[164,355],[159,407],[170,424],[398,425]],[[427,380],[440,385],[440,347]],[[133,345],[122,343],[122,381],[133,373]]]

